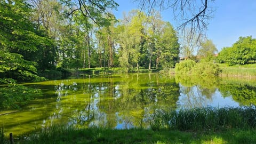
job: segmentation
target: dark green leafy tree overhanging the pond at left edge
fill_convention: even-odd
[[[54,63],[54,43],[35,29],[30,12],[25,1],[0,2],[1,72],[22,81],[37,78],[36,66],[50,68]]]

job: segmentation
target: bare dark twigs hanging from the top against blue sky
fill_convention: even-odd
[[[181,21],[179,29],[186,33],[189,28],[189,34],[195,37],[197,41],[205,34],[207,29],[207,21],[211,19],[212,12],[210,3],[213,1],[202,0],[135,0],[139,2],[141,9],[145,9],[150,14],[152,9],[159,8],[161,10],[172,7],[174,18]]]

